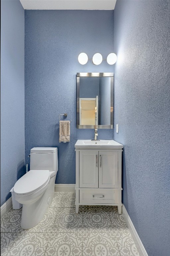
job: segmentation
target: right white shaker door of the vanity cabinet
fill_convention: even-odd
[[[118,188],[118,151],[99,151],[99,188]]]

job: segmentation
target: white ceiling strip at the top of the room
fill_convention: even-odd
[[[26,10],[114,10],[116,0],[20,0]]]

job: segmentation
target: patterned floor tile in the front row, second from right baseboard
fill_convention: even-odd
[[[114,232],[83,233],[83,256],[120,256]]]

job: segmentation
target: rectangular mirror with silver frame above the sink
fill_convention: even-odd
[[[113,73],[77,73],[77,128],[113,129]]]

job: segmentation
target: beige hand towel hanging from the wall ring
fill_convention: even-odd
[[[70,141],[70,121],[59,122],[59,142]]]

